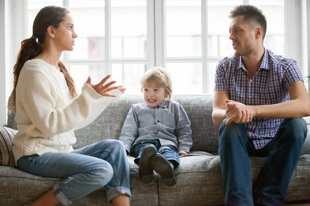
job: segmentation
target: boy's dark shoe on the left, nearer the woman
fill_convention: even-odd
[[[156,149],[148,145],[143,148],[139,160],[139,174],[144,184],[153,181],[153,167],[151,164],[152,157],[156,154]]]

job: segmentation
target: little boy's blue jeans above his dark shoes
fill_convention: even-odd
[[[155,147],[157,150],[157,153],[162,154],[167,160],[169,160],[174,169],[177,168],[180,164],[180,158],[178,155],[178,149],[173,145],[161,145],[160,141],[158,139],[155,140],[147,140],[147,141],[140,141],[138,144],[135,145],[133,149],[135,154],[135,160],[134,162],[139,165],[140,156],[142,153],[142,150],[145,146],[151,145]]]

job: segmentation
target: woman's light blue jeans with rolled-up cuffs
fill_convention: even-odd
[[[127,155],[118,140],[103,140],[72,153],[23,156],[17,166],[33,175],[64,178],[53,186],[54,195],[63,205],[104,186],[109,202],[120,194],[131,197]]]

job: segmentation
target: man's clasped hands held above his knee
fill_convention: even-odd
[[[240,102],[235,102],[229,99],[225,100],[226,103],[226,123],[230,124],[232,121],[235,123],[247,123],[252,121],[253,114],[250,106],[246,106]]]

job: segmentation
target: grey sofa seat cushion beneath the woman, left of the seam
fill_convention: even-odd
[[[158,206],[157,176],[154,173],[154,182],[143,184],[139,177],[139,167],[129,157],[131,204]],[[0,166],[0,205],[23,205],[29,203],[47,191],[54,184],[60,182],[60,178],[43,178],[25,173],[16,168]],[[105,190],[101,188],[86,195],[84,198],[74,201],[73,206],[103,205],[108,206]]]

